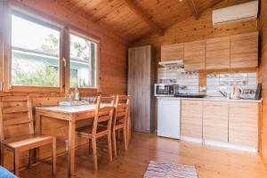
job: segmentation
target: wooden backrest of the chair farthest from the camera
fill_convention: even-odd
[[[120,120],[120,124],[125,124],[128,117],[130,104],[130,96],[117,95],[114,111],[113,125],[117,125],[117,120]]]

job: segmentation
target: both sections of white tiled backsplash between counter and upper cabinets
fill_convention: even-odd
[[[158,83],[175,83],[180,85],[179,93],[198,93],[198,72],[186,72],[184,69],[158,69]],[[231,93],[231,86],[239,85],[246,99],[254,98],[257,88],[256,73],[231,73],[206,75],[206,94],[222,96],[219,91]]]

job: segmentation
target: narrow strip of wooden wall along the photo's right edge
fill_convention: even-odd
[[[262,153],[263,160],[267,166],[267,2],[261,1],[261,12],[259,20],[259,29],[261,36],[260,50],[260,81],[263,83],[263,115],[262,115]]]

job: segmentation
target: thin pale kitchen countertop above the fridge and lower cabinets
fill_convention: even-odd
[[[182,98],[182,97],[174,97],[174,96],[162,96],[157,97],[158,100],[162,99],[168,99],[168,100],[201,100],[201,101],[232,101],[232,102],[258,102],[261,103],[262,100],[234,100],[234,99],[228,99],[228,98],[222,98],[222,97],[205,97],[205,98]]]

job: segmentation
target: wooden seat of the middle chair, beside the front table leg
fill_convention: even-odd
[[[79,136],[85,136],[87,138],[92,138],[93,125],[88,125],[76,129],[76,132]],[[104,134],[109,134],[107,125],[98,125],[96,131],[96,137],[101,137]]]

